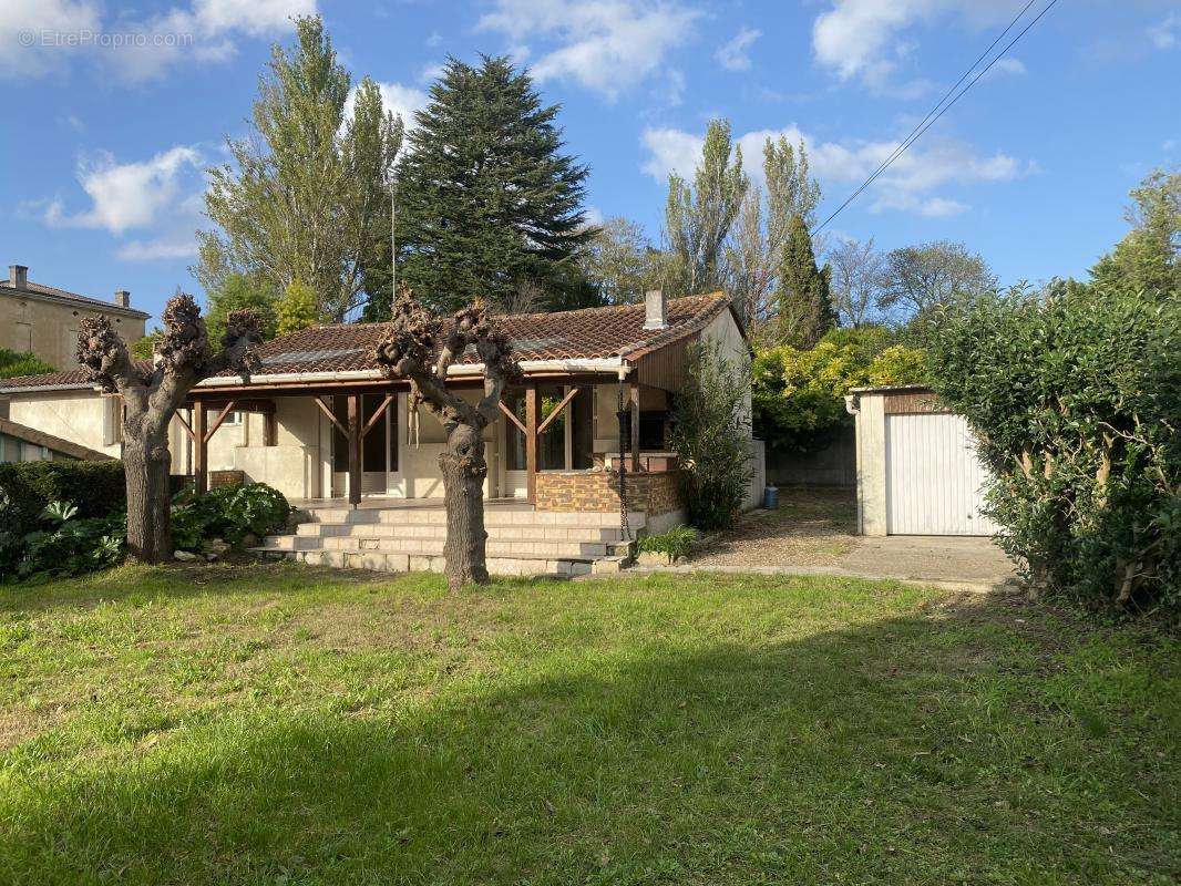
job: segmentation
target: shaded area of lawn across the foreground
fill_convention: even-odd
[[[1053,644],[1018,640],[976,607],[794,643],[686,650],[670,637],[574,660],[389,721],[259,712],[52,777],[9,771],[0,880],[1181,874],[1175,773],[1149,750],[1168,736],[1164,693],[1133,717],[1144,699],[1118,686],[1121,667],[1144,662],[1074,685]]]

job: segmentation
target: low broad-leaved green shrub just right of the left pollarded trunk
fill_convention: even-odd
[[[223,486],[172,508],[172,543],[197,551],[209,539],[237,546],[247,535],[260,539],[287,525],[291,504],[266,483]]]

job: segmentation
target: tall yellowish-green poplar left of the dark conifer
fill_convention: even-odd
[[[228,141],[234,159],[209,170],[197,279],[220,289],[231,273],[285,292],[312,287],[317,313],[355,315],[389,265],[390,172],[402,120],[376,83],[353,90],[319,17],[295,20],[296,44],[275,46],[254,103],[254,132]]]

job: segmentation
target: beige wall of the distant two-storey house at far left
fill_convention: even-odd
[[[78,324],[84,317],[106,313],[128,344],[144,335],[144,320],[112,312],[79,308],[0,291],[0,347],[32,351],[59,370],[78,366]]]

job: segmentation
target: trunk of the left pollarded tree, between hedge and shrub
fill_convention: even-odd
[[[128,476],[128,553],[145,563],[172,559],[171,500],[168,476],[171,467],[168,438],[149,435],[146,441],[128,438],[123,467]]]

